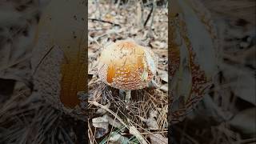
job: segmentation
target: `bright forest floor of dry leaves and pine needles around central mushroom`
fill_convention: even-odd
[[[168,10],[159,6],[151,14],[150,10],[150,6],[141,6],[139,2],[125,5],[89,3],[90,142],[167,142]],[[97,72],[102,48],[108,42],[126,39],[133,39],[153,50],[158,58],[158,75],[155,78],[158,87],[133,90],[129,107],[119,97],[118,90],[98,80]]]

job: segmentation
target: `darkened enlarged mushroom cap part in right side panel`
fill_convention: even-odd
[[[197,0],[173,0],[170,11],[170,123],[182,121],[204,97],[218,71],[218,34]]]

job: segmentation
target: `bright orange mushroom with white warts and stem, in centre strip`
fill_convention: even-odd
[[[102,50],[98,76],[107,85],[124,90],[130,102],[131,90],[148,86],[157,70],[152,50],[133,41],[118,41]]]

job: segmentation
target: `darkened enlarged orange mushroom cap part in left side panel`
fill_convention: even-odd
[[[32,58],[34,90],[58,110],[82,120],[86,120],[86,33],[78,27],[84,24],[85,5],[51,1],[40,18]]]

